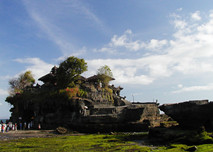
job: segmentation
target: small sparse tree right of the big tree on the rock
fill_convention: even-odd
[[[112,71],[109,68],[109,66],[107,66],[107,65],[101,66],[97,70],[97,75],[98,75],[100,81],[103,83],[103,85],[105,87],[108,86],[110,80],[113,80],[113,78],[112,78],[113,77]]]

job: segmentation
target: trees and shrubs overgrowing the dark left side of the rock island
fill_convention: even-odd
[[[11,93],[6,98],[12,106],[11,121],[19,122],[21,118],[22,122],[31,122],[37,118],[36,122],[40,123],[48,114],[79,111],[83,103],[76,99],[113,103],[113,91],[108,87],[109,81],[113,80],[110,68],[105,65],[99,69],[98,75],[90,78],[81,76],[85,71],[85,60],[71,56],[39,78],[44,83],[42,85],[34,85],[35,79],[30,71],[11,79]]]

